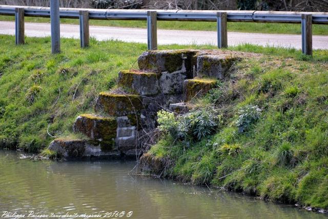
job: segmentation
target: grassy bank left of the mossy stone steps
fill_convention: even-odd
[[[27,151],[48,146],[49,134],[69,135],[74,118],[92,112],[98,93],[147,49],[94,40],[80,49],[75,39],[62,39],[62,53],[51,55],[50,38],[26,42],[15,46],[12,36],[0,35],[0,146]]]

